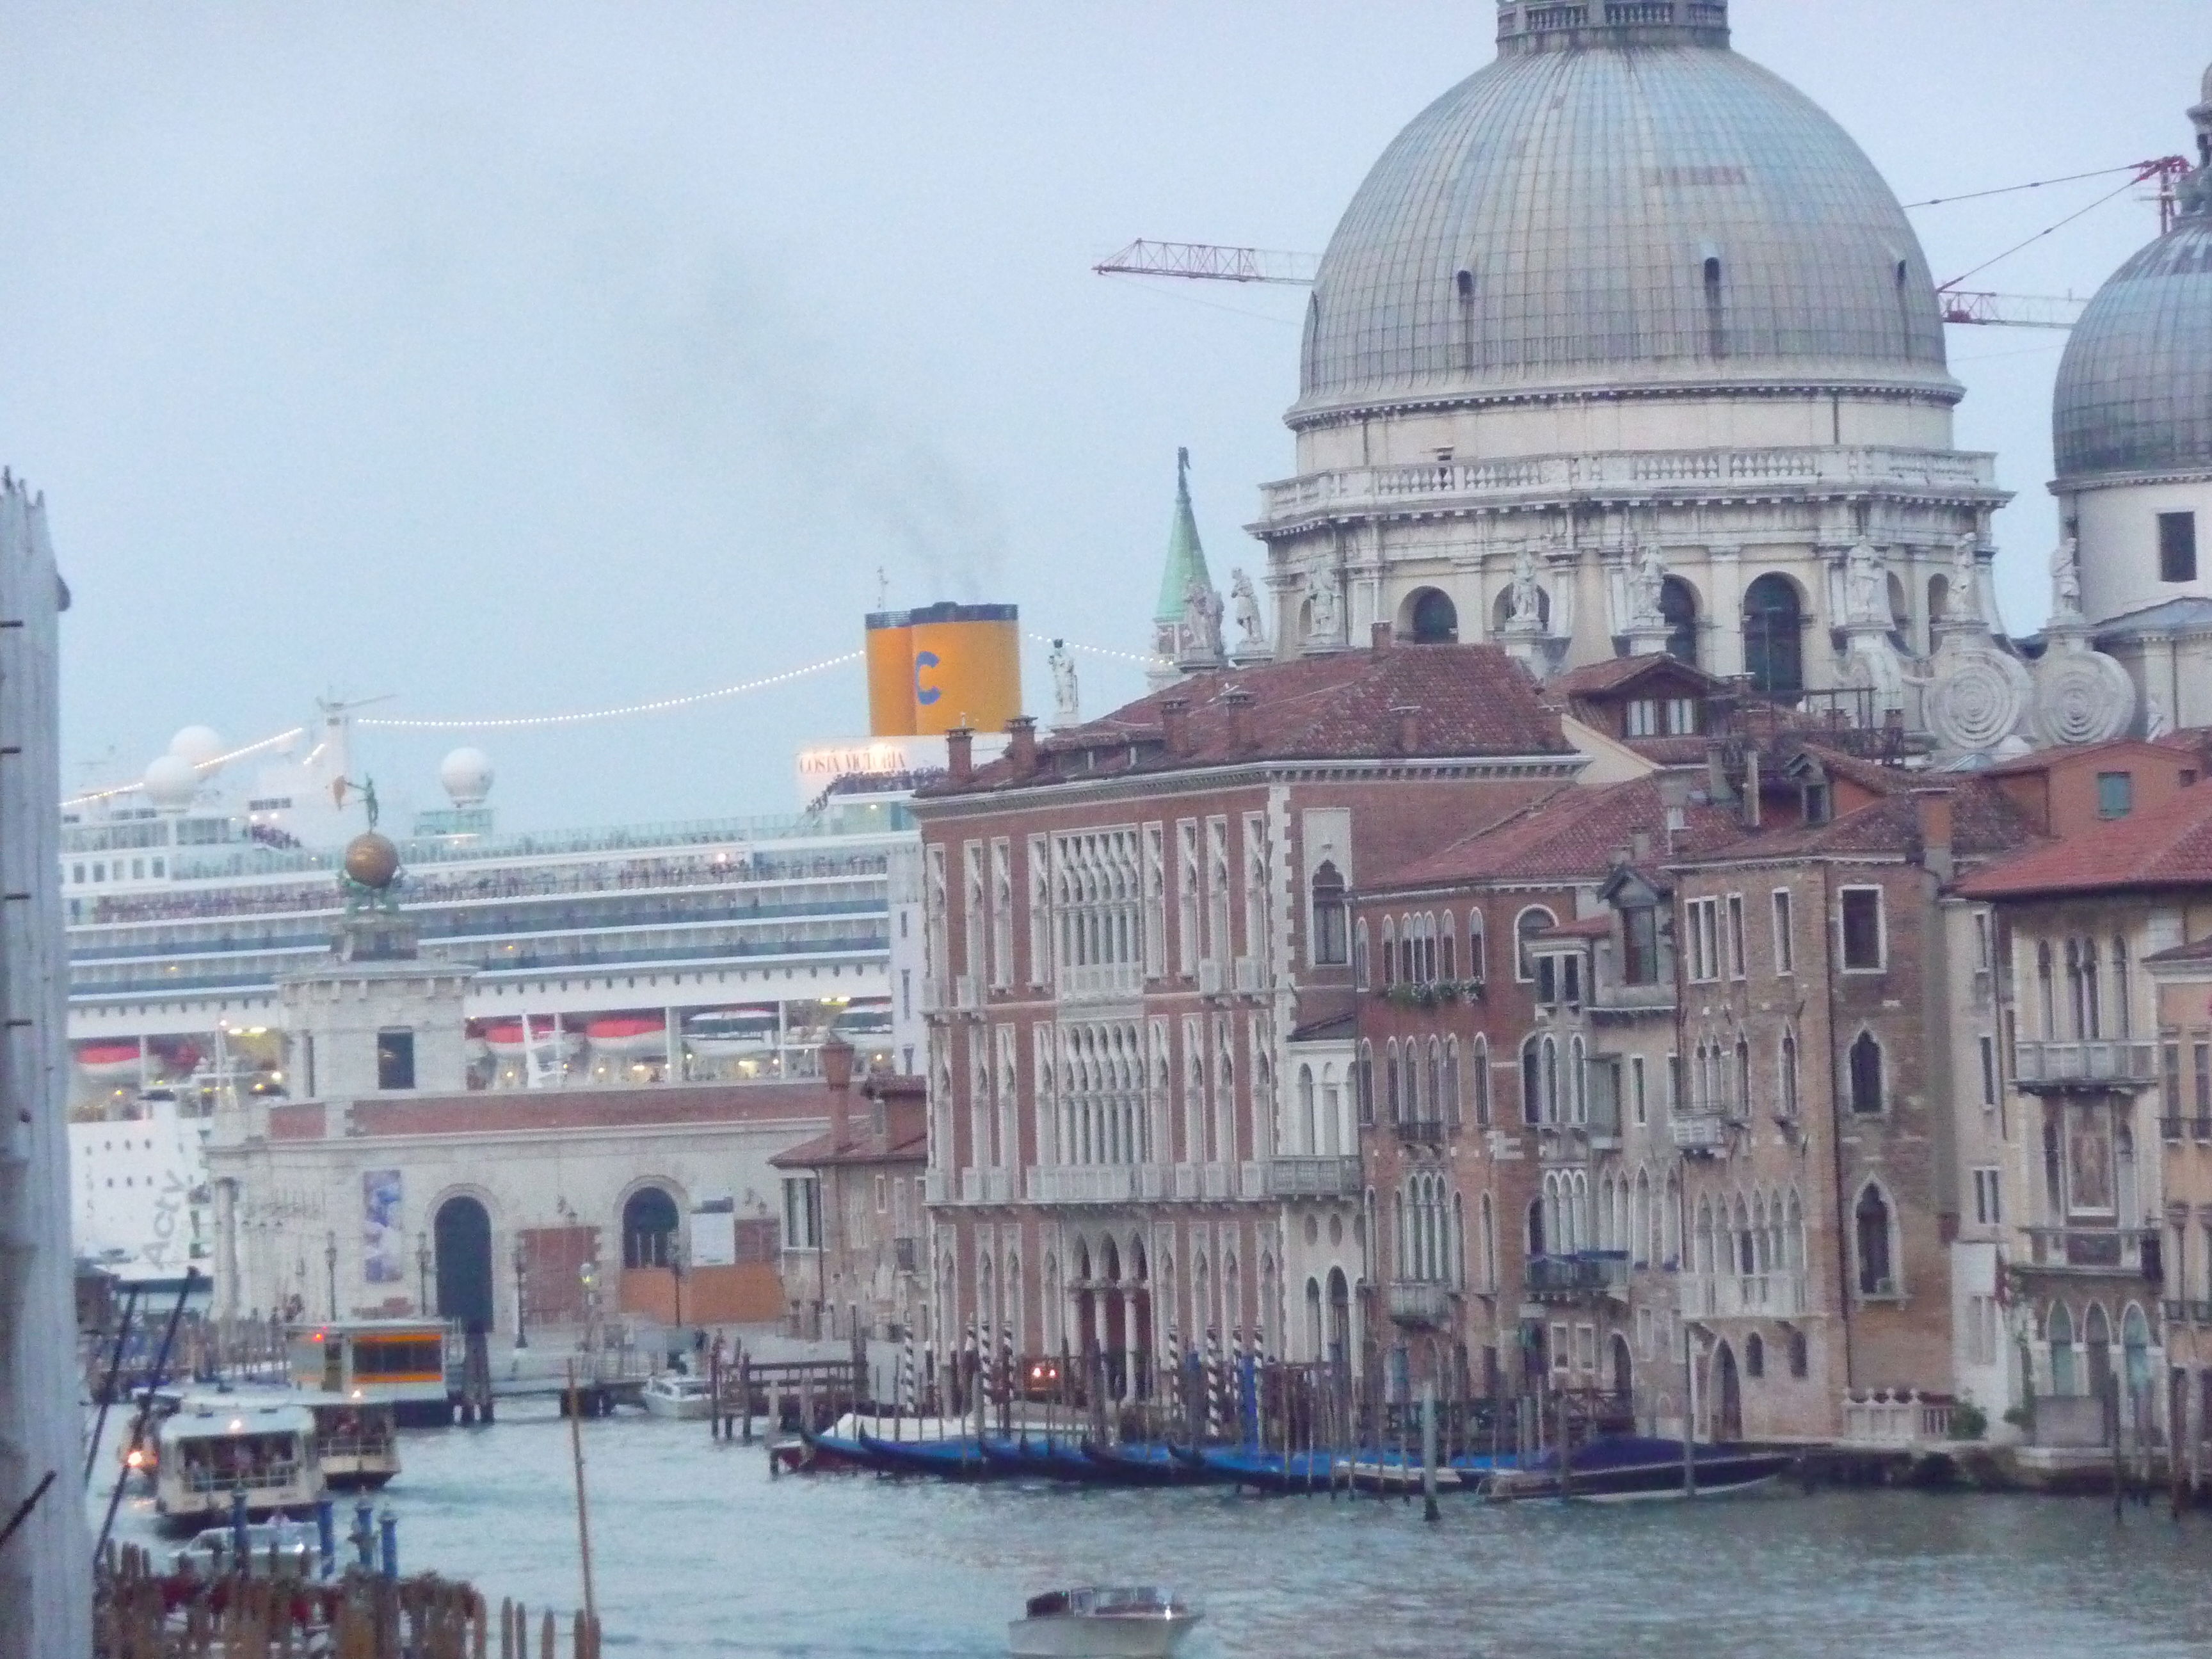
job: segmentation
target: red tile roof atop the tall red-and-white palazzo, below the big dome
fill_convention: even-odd
[[[1234,737],[1230,692],[1250,697],[1252,743]],[[1181,754],[1168,754],[1164,706],[1186,703]],[[1082,776],[1177,772],[1239,761],[1400,759],[1400,717],[1416,710],[1413,757],[1571,754],[1559,717],[1533,675],[1498,646],[1336,650],[1192,675],[1104,719],[1037,743],[1044,763],[1018,779],[1006,759],[920,790],[927,796],[1024,787]]]

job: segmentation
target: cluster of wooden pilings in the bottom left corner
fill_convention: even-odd
[[[93,1659],[491,1659],[491,1610],[436,1573],[321,1582],[288,1573],[204,1579],[155,1573],[148,1551],[108,1546],[93,1582]],[[599,1659],[599,1624],[500,1604],[498,1659]]]

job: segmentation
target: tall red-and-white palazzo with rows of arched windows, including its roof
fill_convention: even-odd
[[[1383,628],[951,757],[916,803],[947,1327],[1124,1394],[1170,1340],[1356,1347],[1349,896],[1575,776],[1535,681]]]

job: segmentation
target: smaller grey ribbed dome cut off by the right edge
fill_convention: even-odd
[[[2097,290],[2059,358],[2051,442],[2062,480],[2212,471],[2212,215]]]

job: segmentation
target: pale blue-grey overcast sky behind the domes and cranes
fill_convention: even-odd
[[[1493,55],[1427,4],[0,4],[0,460],[75,593],[69,781],[321,692],[546,714],[1011,599],[1146,646],[1175,447],[1208,557],[1292,465],[1298,290],[1099,279],[1130,237],[1318,250]],[[1736,46],[1905,201],[2188,148],[2203,0],[1736,0]],[[2090,179],[1916,210],[1951,276]],[[2088,294],[2128,190],[1978,276]],[[1953,327],[2006,619],[2044,615],[2062,334]],[[1082,661],[1099,712],[1141,688]],[[1046,697],[1042,653],[1031,701]],[[781,812],[836,668],[681,714],[489,732],[509,827]],[[458,737],[374,734],[400,805]]]

